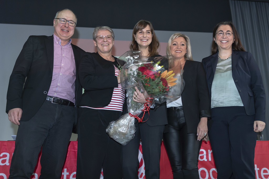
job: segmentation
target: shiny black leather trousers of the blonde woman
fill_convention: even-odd
[[[179,173],[192,170],[189,173],[199,179],[198,157],[202,140],[197,141],[196,133],[187,133],[183,109],[168,109],[167,115],[168,133],[164,133],[163,140],[172,171]]]

